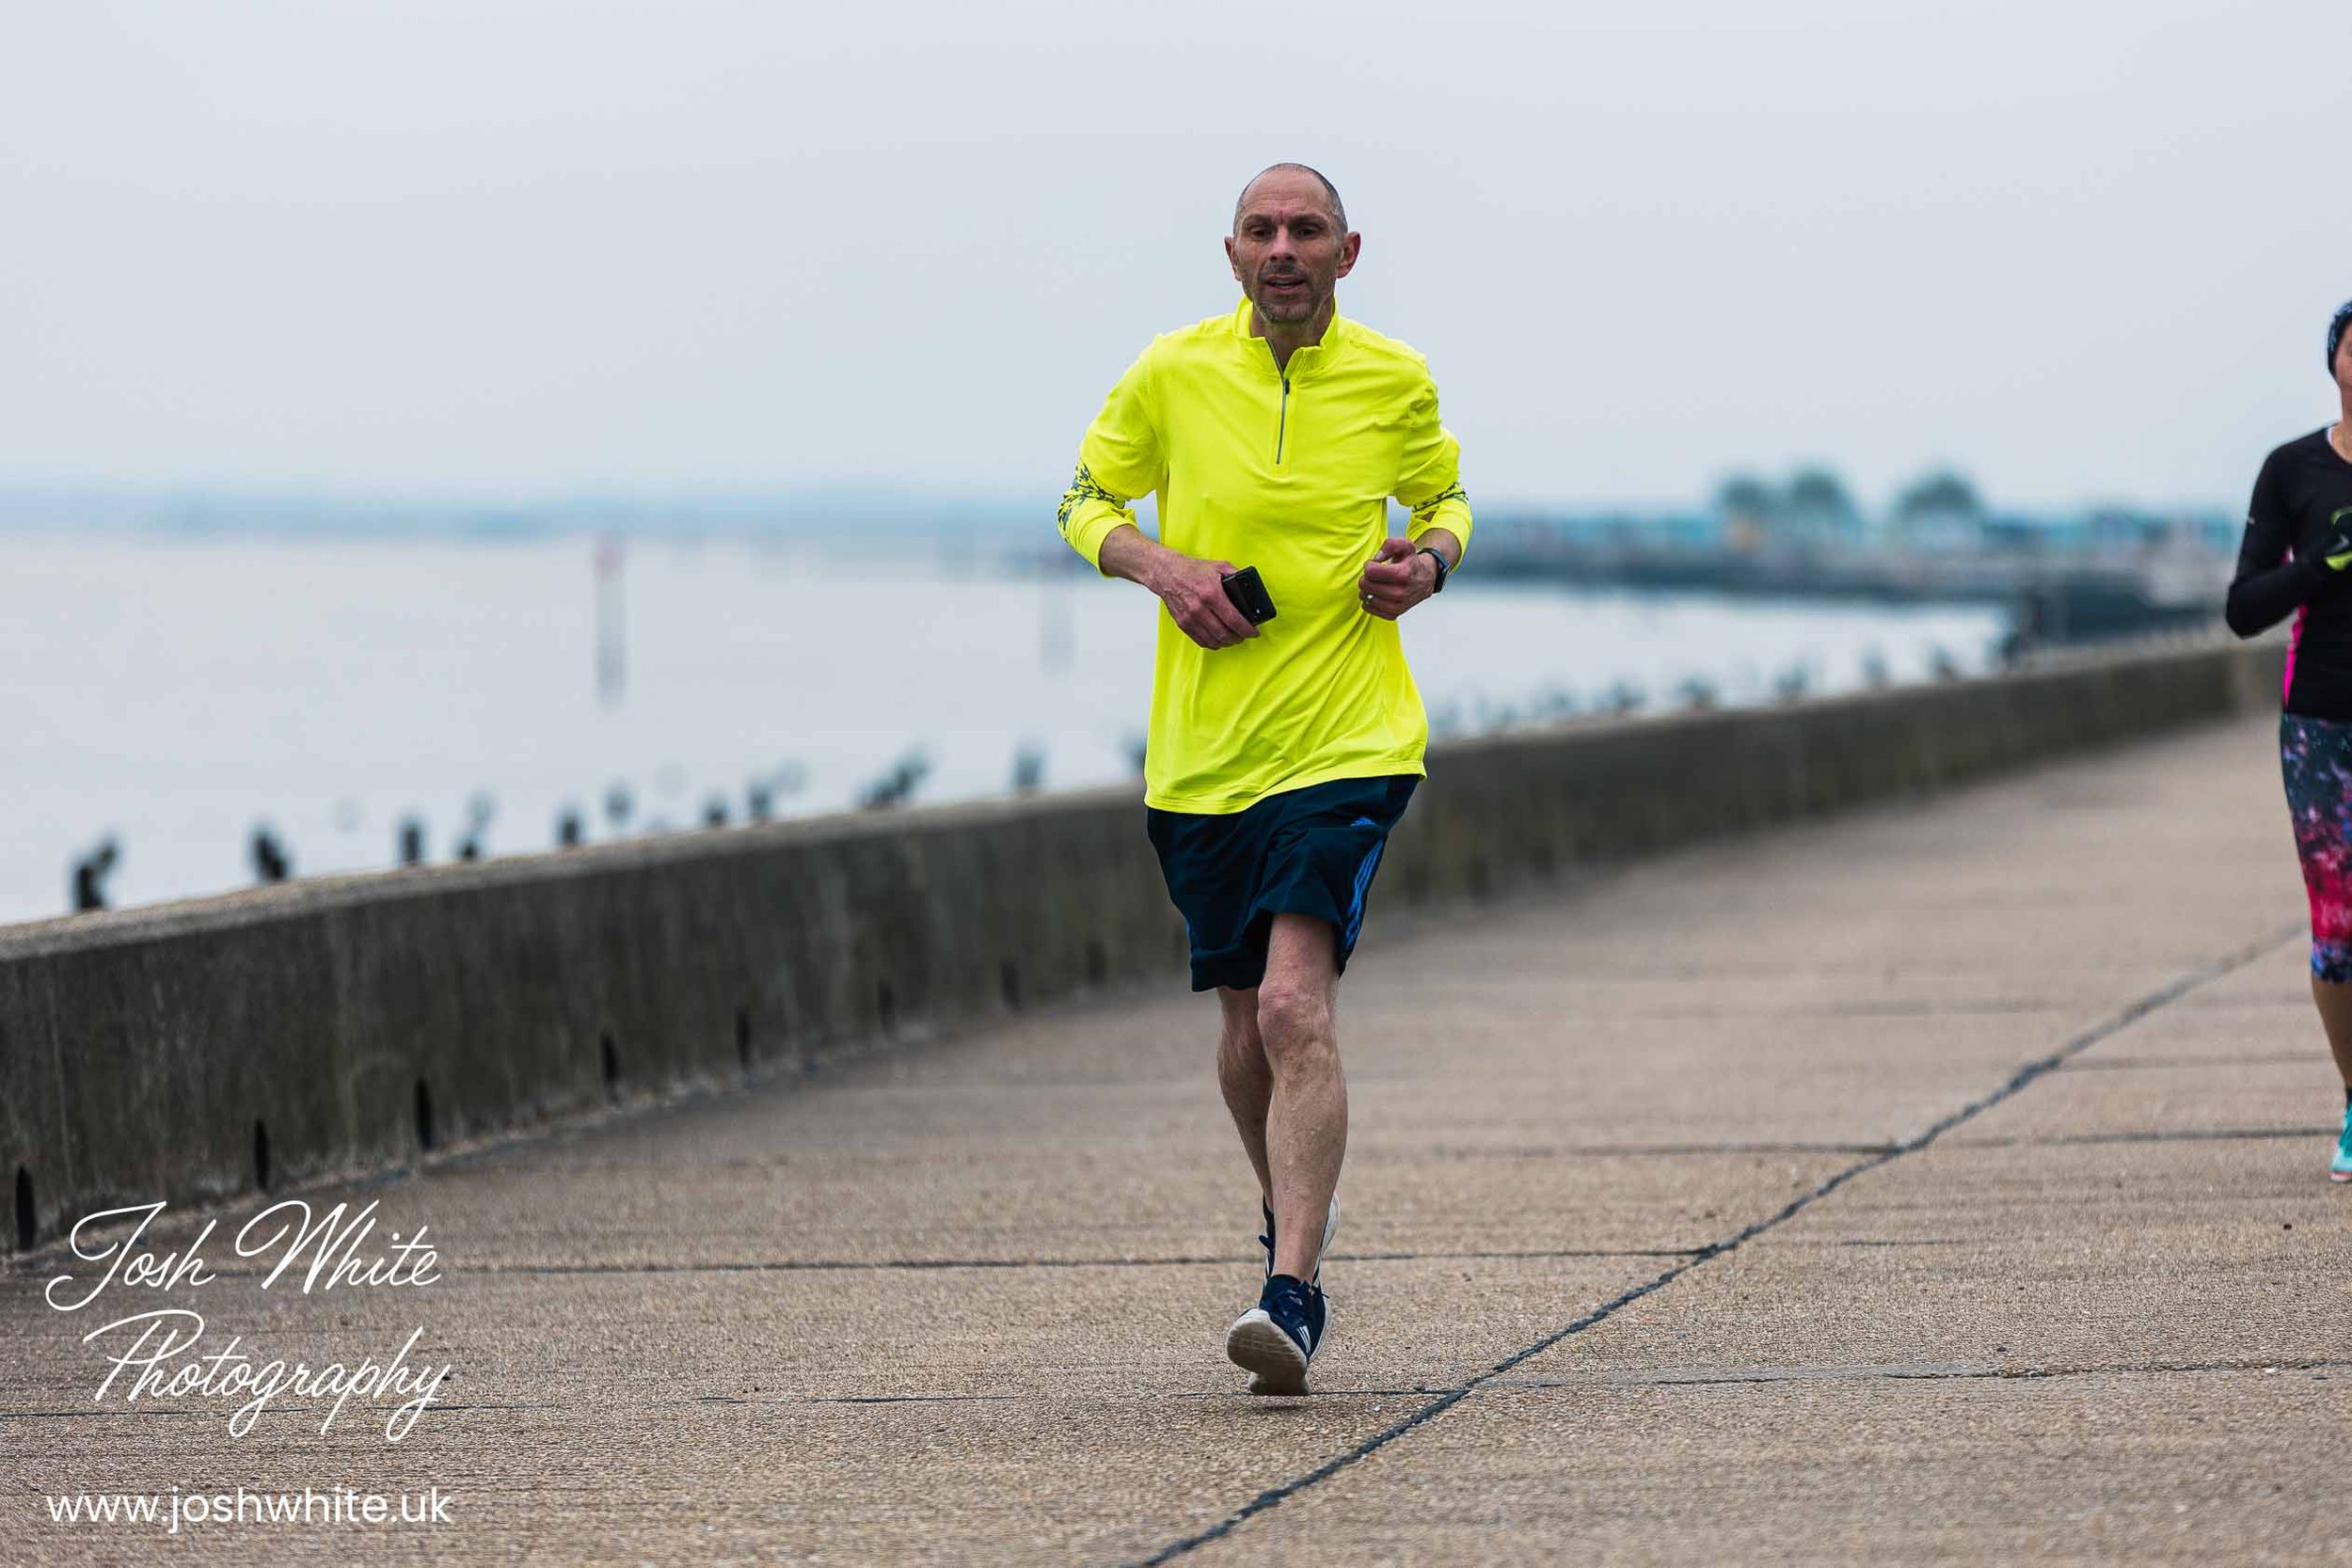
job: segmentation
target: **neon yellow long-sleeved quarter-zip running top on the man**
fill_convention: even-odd
[[[1103,402],[1061,501],[1061,536],[1101,569],[1103,538],[1160,496],[1160,543],[1256,567],[1275,618],[1204,649],[1160,611],[1143,802],[1244,811],[1331,778],[1423,773],[1430,722],[1395,621],[1364,614],[1357,576],[1388,538],[1470,543],[1461,444],[1437,423],[1428,360],[1331,317],[1275,369],[1249,301],[1162,334]]]

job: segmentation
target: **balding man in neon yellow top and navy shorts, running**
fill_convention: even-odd
[[[1225,1335],[1254,1394],[1303,1394],[1324,1345],[1348,1150],[1331,1016],[1430,731],[1397,616],[1470,538],[1428,362],[1334,303],[1359,247],[1315,169],[1249,181],[1225,240],[1242,303],[1152,339],[1061,503],[1070,548],[1164,607],[1145,827],[1192,990],[1223,1011],[1216,1081],[1258,1175],[1265,1286]],[[1143,494],[1157,543],[1127,505]],[[1390,496],[1411,510],[1404,538]],[[1225,595],[1242,567],[1275,604],[1258,625]]]

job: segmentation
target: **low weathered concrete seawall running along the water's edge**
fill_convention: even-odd
[[[1442,745],[1378,898],[1479,898],[2256,710],[2277,668],[2274,644],[2197,642]],[[1138,818],[1117,788],[0,929],[5,1241],[1174,980]]]

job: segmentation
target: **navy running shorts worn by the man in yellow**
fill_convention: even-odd
[[[1418,783],[1334,778],[1225,816],[1145,809],[1160,875],[1192,943],[1192,990],[1263,980],[1275,914],[1331,922],[1345,973],[1388,830]]]

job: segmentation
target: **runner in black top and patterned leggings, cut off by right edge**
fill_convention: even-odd
[[[2230,583],[2230,630],[2296,616],[2279,759],[2312,900],[2312,1001],[2345,1081],[2328,1180],[2352,1182],[2352,303],[2328,322],[2340,418],[2270,454]]]

